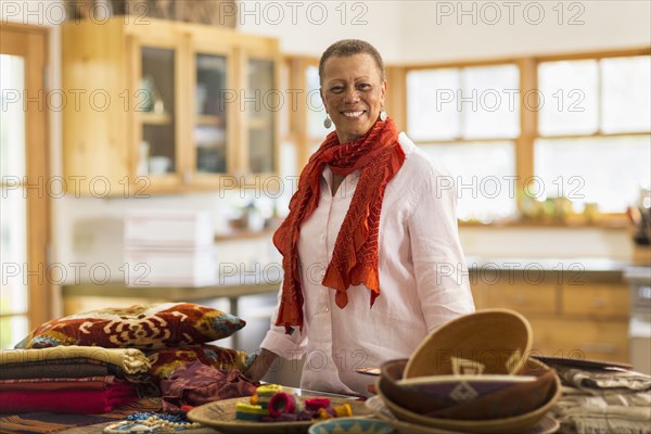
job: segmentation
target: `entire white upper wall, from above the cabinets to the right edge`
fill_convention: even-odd
[[[299,2],[301,8],[294,9],[292,2],[270,3],[275,5],[242,2],[239,11],[247,13],[240,16],[240,28],[278,37],[283,52],[292,54],[318,56],[330,43],[344,38],[367,39],[387,63],[490,59],[651,43],[651,2],[647,0],[310,0]],[[321,21],[322,24],[315,24]]]

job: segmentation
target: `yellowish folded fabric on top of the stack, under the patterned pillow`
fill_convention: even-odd
[[[26,362],[54,362],[67,359],[87,358],[120,368],[125,374],[149,372],[150,361],[136,348],[101,348],[97,346],[58,346],[40,349],[2,349],[0,366]]]

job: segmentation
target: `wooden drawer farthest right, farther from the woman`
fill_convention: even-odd
[[[563,285],[563,315],[596,318],[628,318],[628,286],[616,283],[588,283],[585,285]]]

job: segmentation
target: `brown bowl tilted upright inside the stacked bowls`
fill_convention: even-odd
[[[404,376],[514,374],[532,344],[532,327],[521,314],[480,310],[432,331],[409,358]]]

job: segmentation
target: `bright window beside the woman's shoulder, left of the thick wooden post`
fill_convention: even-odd
[[[462,220],[515,214],[519,89],[512,64],[407,73],[408,135],[450,171]]]

